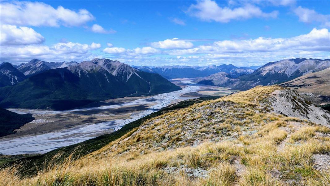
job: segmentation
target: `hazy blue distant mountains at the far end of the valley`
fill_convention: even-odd
[[[167,79],[174,78],[198,78],[209,76],[218,72],[226,72],[231,77],[236,78],[241,75],[252,73],[254,70],[248,67],[236,67],[232,64],[222,64],[219,66],[133,66],[144,72],[157,73]]]

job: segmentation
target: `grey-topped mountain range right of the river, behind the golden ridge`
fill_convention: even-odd
[[[251,74],[230,78],[230,74],[213,74],[204,78],[199,78],[194,82],[232,89],[248,90],[257,85],[273,85],[293,80],[304,74],[317,72],[330,67],[330,59],[283,59],[270,62],[258,68]],[[227,79],[221,79],[226,76]]]

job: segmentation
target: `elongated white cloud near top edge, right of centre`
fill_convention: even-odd
[[[244,7],[231,9],[219,7],[215,1],[205,0],[192,4],[186,11],[190,16],[197,17],[204,21],[229,22],[231,20],[250,18],[276,18],[278,11],[264,13],[259,7],[246,4]]]

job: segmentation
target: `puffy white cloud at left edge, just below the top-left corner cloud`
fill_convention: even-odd
[[[15,25],[0,25],[0,44],[1,45],[29,45],[44,42],[44,37],[32,28]]]

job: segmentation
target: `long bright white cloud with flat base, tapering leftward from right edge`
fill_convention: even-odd
[[[202,54],[202,53],[249,53],[275,51],[330,51],[329,30],[314,28],[308,34],[291,38],[264,38],[250,40],[216,41],[213,45],[201,45],[192,49],[172,50],[171,55]]]

